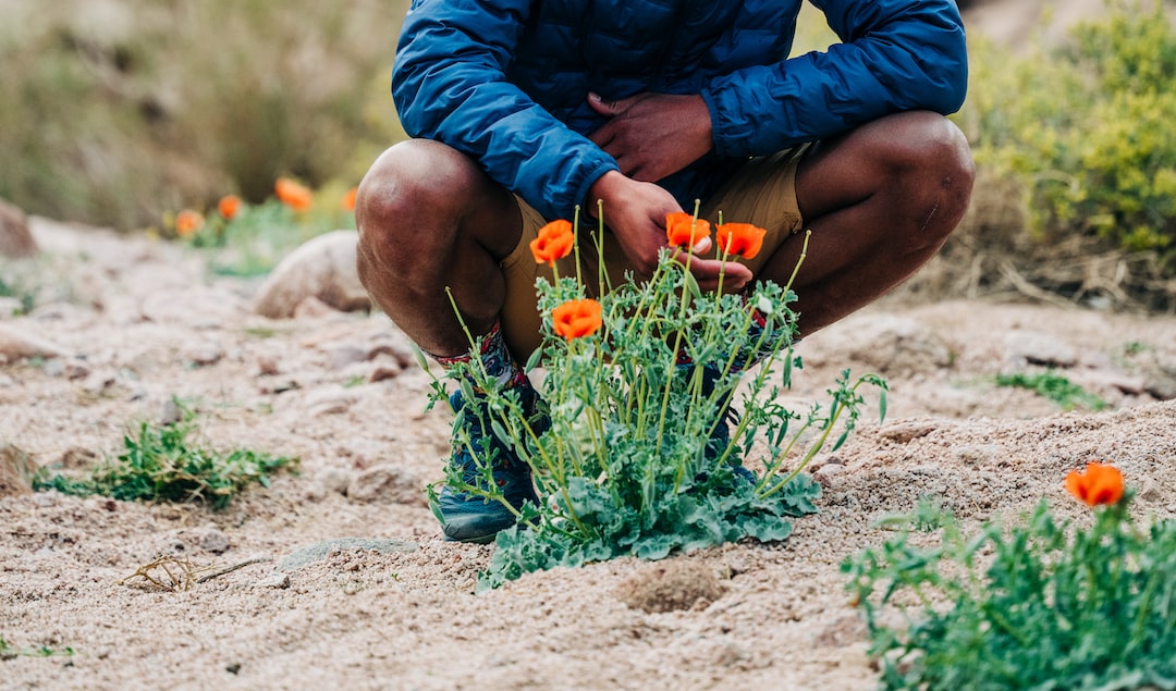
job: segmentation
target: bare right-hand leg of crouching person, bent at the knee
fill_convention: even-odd
[[[935,255],[968,208],[968,142],[933,113],[882,118],[822,141],[800,162],[796,203],[811,229],[793,290],[801,334],[880,297]],[[757,277],[784,283],[803,235],[786,240]]]

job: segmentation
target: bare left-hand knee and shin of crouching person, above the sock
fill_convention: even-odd
[[[494,327],[506,298],[499,262],[519,242],[514,196],[469,157],[409,140],[386,150],[355,201],[356,264],[372,300],[422,350],[453,356]]]

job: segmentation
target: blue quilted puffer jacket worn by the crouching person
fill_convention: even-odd
[[[810,0],[843,41],[787,59],[801,0],[413,0],[393,68],[401,123],[455,147],[548,219],[612,156],[588,92],[701,94],[714,150],[660,185],[684,208],[734,165],[897,110],[951,113],[967,85],[954,0]]]

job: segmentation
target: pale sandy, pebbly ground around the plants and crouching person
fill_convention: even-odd
[[[1141,517],[1176,516],[1176,401],[1158,400],[1176,318],[888,298],[801,346],[794,403],[850,367],[888,378],[890,411],[880,424],[871,401],[817,458],[820,512],[786,543],[475,593],[493,548],[442,542],[421,501],[448,420],[423,411],[428,377],[403,367],[385,317],[265,320],[254,286],[208,279],[178,247],[33,226],[61,298],[0,326],[66,356],[0,365],[0,445],[85,465],[179,396],[211,445],[296,455],[301,472],[220,512],[0,498],[0,638],[74,651],[0,660],[2,689],[870,689],[838,564],[891,535],[880,517],[924,495],[968,522],[1015,519],[1042,497],[1081,517],[1062,478],[1090,459],[1123,469]],[[1110,409],[1065,412],[993,383],[1047,365]],[[367,542],[320,544],[341,538]],[[160,556],[247,564],[178,592],[123,581]]]

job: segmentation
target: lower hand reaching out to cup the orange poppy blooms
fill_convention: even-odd
[[[604,223],[613,230],[617,243],[629,261],[639,279],[648,279],[657,268],[657,253],[669,247],[666,239],[666,215],[681,212],[682,207],[674,196],[652,182],[641,182],[609,170],[588,190],[588,213],[596,215],[596,200],[600,200],[604,212]],[[710,239],[700,241],[687,253],[679,250],[677,261],[689,261],[690,274],[699,288],[715,290],[719,288],[719,274],[726,271],[723,289],[739,290],[751,280],[751,270],[737,262],[723,264],[716,259],[699,256],[710,251]]]

